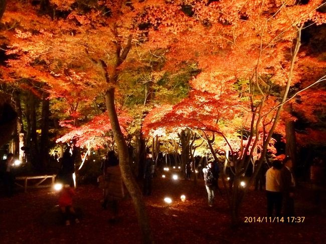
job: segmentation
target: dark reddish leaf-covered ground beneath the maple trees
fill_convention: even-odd
[[[182,194],[185,202],[180,200]],[[83,216],[79,224],[70,226],[58,223],[58,195],[50,188],[1,196],[0,243],[141,243],[130,198],[120,202],[120,221],[109,224],[110,212],[101,208],[101,195],[97,186],[80,185],[75,205]],[[170,206],[163,201],[166,196],[173,199]],[[215,205],[208,206],[202,180],[195,185],[155,177],[153,193],[144,199],[155,243],[325,243],[325,200],[321,195],[320,211],[312,204],[314,197],[309,184],[301,184],[296,212],[305,217],[303,223],[252,222],[237,229],[230,228],[228,205],[219,194]],[[243,205],[243,221],[245,216],[265,216],[265,212],[264,192],[251,190]]]

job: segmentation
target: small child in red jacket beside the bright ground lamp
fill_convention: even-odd
[[[70,219],[74,219],[75,223],[79,223],[79,219],[73,207],[72,198],[74,195],[74,189],[68,184],[64,185],[60,191],[58,203],[66,225],[70,225]]]

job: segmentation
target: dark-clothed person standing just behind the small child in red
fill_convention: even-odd
[[[73,173],[75,172],[75,163],[72,158],[72,149],[68,147],[63,153],[61,159],[61,169],[59,171],[59,179],[63,182],[63,184],[69,184],[70,186],[74,186]]]

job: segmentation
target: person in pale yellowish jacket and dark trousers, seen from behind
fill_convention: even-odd
[[[282,191],[281,191],[281,168],[282,163],[274,160],[272,167],[266,172],[266,196],[267,196],[267,216],[273,215],[275,207],[276,216],[281,215]]]

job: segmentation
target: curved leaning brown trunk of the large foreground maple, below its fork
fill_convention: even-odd
[[[141,191],[133,177],[131,167],[129,165],[129,154],[127,144],[124,140],[123,134],[120,129],[118,117],[114,105],[114,88],[109,88],[105,93],[105,103],[110,123],[113,131],[113,136],[118,147],[119,164],[121,168],[123,182],[129,191],[132,198],[134,208],[136,210],[138,223],[144,243],[152,243],[152,235],[149,225],[149,219],[146,213],[145,203]]]

